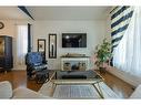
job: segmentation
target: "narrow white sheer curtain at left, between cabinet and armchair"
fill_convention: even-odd
[[[28,52],[28,25],[17,25],[17,64],[24,64],[24,56]]]

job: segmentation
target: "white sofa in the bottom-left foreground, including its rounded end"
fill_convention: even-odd
[[[51,98],[26,87],[12,90],[10,82],[0,82],[0,98]]]

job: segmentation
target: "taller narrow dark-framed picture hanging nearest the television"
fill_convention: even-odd
[[[49,59],[57,59],[57,34],[49,34]]]

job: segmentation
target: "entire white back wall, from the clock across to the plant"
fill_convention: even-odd
[[[48,34],[57,33],[57,59],[48,59],[49,69],[61,69],[60,56],[66,53],[81,53],[92,55],[97,44],[102,42],[105,35],[105,21],[23,21],[23,20],[0,20],[4,23],[4,29],[0,30],[0,35],[10,35],[13,38],[13,70],[24,70],[24,66],[16,65],[17,59],[17,24],[31,23],[32,30],[32,49],[37,51],[37,40],[42,38],[47,40],[47,59],[48,59]],[[87,32],[87,46],[84,49],[62,49],[61,33],[63,32]],[[93,63],[91,62],[91,67]]]

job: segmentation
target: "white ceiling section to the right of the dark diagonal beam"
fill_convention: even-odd
[[[108,7],[27,7],[36,20],[105,19]]]

